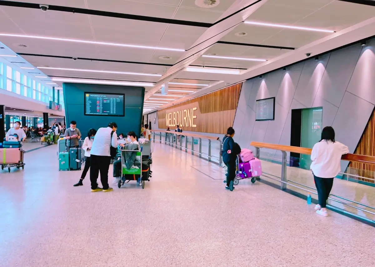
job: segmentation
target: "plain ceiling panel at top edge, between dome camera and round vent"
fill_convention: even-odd
[[[172,18],[176,6],[130,0],[86,0],[89,9],[134,14],[158,18]]]

